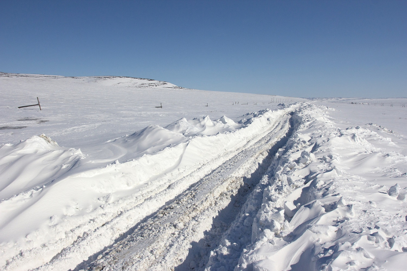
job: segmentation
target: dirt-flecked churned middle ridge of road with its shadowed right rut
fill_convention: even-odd
[[[186,258],[185,262],[191,264],[199,239],[203,240],[200,259],[206,261],[271,164],[274,152],[287,140],[289,122],[289,114],[285,114],[277,126],[250,148],[167,202],[136,225],[126,238],[99,254],[96,261],[82,263],[76,269],[173,270]]]

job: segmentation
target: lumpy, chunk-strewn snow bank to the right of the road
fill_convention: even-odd
[[[242,211],[252,221],[250,245],[230,265],[245,241],[230,244],[227,238],[239,238],[229,232],[207,269],[405,269],[407,203],[397,193],[407,192],[407,180],[397,165],[407,157],[385,152],[391,142],[375,132],[337,128],[321,107],[295,116],[298,130],[257,185],[263,204],[253,213],[248,202]]]

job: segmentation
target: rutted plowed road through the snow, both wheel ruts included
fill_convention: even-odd
[[[161,160],[154,162],[156,173],[149,172],[149,185],[134,195],[107,202],[100,216],[83,220],[77,228],[85,230],[77,238],[58,241],[60,249],[52,248],[52,259],[36,270],[204,268],[233,222],[246,219],[242,206],[292,133],[295,108],[248,115],[250,123],[242,130],[195,137],[161,156],[151,156]],[[193,157],[197,153],[202,156]],[[135,163],[137,160],[107,167],[103,178],[120,179],[123,170],[137,175]],[[87,182],[86,174],[83,182]],[[243,245],[235,247],[231,264],[237,263],[244,244],[251,241],[250,220],[247,217],[244,223],[239,240]],[[49,254],[53,251],[50,247]],[[21,254],[18,260],[29,264],[27,255],[31,254]]]

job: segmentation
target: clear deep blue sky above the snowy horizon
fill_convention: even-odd
[[[0,71],[406,97],[407,1],[2,0]]]

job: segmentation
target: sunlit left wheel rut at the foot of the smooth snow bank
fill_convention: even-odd
[[[125,209],[117,210],[114,216],[97,228],[89,229],[80,234],[75,242],[63,248],[49,262],[37,267],[36,270],[64,270],[75,268],[75,266],[81,263],[86,265],[86,262],[95,260],[101,253],[109,249],[112,244],[118,243],[143,221],[146,221],[149,216],[154,215],[160,207],[176,198],[183,191],[188,190],[189,186],[198,182],[227,160],[238,156],[243,150],[251,149],[257,141],[264,138],[270,131],[279,131],[276,127],[282,119],[287,118],[287,112],[292,110],[285,109],[277,114],[271,114],[270,118],[267,117],[267,120],[266,116],[263,116],[265,117],[263,121],[256,123],[256,132],[248,133],[250,137],[242,137],[241,134],[237,136],[237,138],[241,137],[243,141],[238,144],[238,147],[233,149],[229,147],[229,149],[223,150],[219,155],[198,168],[190,170],[184,176],[177,177],[177,179],[168,179],[168,177],[163,176],[162,180],[158,183],[160,188],[162,188],[159,189],[160,191],[156,190],[156,193],[143,197],[143,199],[133,198],[132,201],[126,201]],[[239,165],[236,164],[236,166]],[[163,187],[164,184],[166,184],[165,187]],[[114,213],[114,208],[112,212]]]

